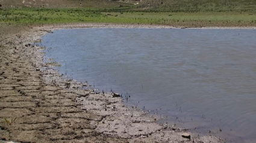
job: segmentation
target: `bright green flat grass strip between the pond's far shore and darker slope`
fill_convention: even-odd
[[[123,12],[116,12],[122,10]],[[111,12],[112,11],[112,12]],[[115,11],[115,12],[113,12]],[[148,12],[130,8],[16,8],[0,10],[0,23],[127,23],[172,26],[256,26],[252,12]]]

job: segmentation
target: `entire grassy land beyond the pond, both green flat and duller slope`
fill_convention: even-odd
[[[256,0],[3,2],[5,6],[16,4],[16,8],[3,6],[0,23],[14,25],[95,22],[189,27],[256,26]]]

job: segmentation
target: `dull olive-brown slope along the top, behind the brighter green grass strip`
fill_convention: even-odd
[[[155,12],[256,12],[255,0],[0,0],[0,4],[2,7],[39,8],[110,8],[136,4],[137,7],[133,10]]]

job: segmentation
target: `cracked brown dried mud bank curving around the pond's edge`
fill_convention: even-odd
[[[157,117],[126,107],[113,93],[83,90],[89,84],[58,74],[43,62],[43,49],[32,45],[53,29],[92,27],[149,28],[90,23],[33,28],[1,25],[0,142],[225,142],[157,124]],[[6,123],[5,118],[16,120]],[[191,139],[181,136],[185,132]]]

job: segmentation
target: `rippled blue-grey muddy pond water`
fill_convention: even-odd
[[[72,29],[42,44],[61,73],[130,96],[164,121],[256,142],[255,37],[248,29]]]

